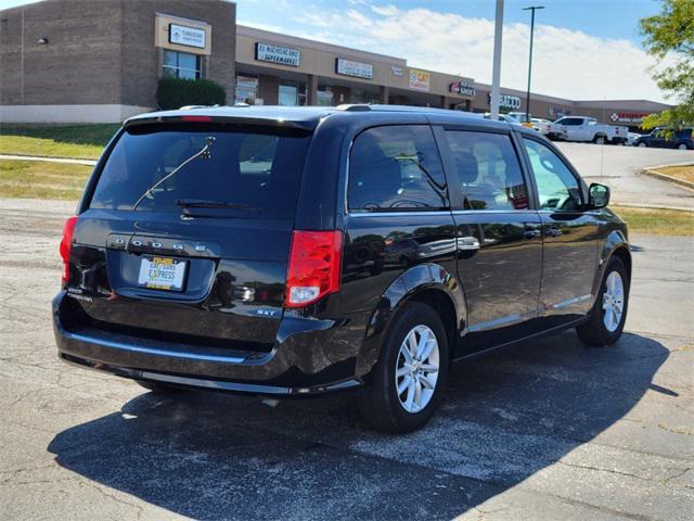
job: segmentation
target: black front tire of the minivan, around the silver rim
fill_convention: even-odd
[[[619,320],[619,325],[613,331],[607,329],[605,326],[604,310],[603,310],[603,298],[606,291],[606,282],[607,277],[613,271],[616,271],[619,277],[621,277],[621,281],[624,284],[624,303],[622,303],[622,313],[621,319]],[[588,345],[602,347],[606,345],[613,345],[615,342],[619,340],[621,336],[621,332],[625,329],[625,321],[627,320],[627,312],[629,308],[629,275],[627,274],[627,268],[624,263],[617,258],[613,257],[607,265],[607,269],[605,269],[605,274],[603,276],[603,280],[600,284],[600,292],[597,293],[597,298],[595,298],[595,304],[590,312],[589,319],[587,322],[578,326],[576,328],[576,332],[578,336],[586,342]]]

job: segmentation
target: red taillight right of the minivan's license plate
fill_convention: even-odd
[[[339,289],[343,234],[294,231],[286,280],[287,307],[301,307]]]

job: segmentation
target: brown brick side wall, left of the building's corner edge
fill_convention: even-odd
[[[0,12],[0,103],[119,103],[121,8],[47,0]]]

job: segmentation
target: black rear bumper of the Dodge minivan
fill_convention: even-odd
[[[64,292],[53,300],[59,357],[134,380],[272,396],[357,389],[359,346],[346,350],[354,328],[332,320],[283,319],[283,334],[268,353],[174,344],[92,329],[66,329]],[[282,330],[282,328],[281,328]],[[338,340],[339,339],[339,340]],[[339,345],[339,348],[333,346]]]

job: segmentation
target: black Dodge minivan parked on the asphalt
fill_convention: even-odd
[[[137,116],[65,224],[60,357],[158,392],[354,391],[411,431],[453,360],[619,339],[631,257],[608,200],[535,130],[455,111]]]

